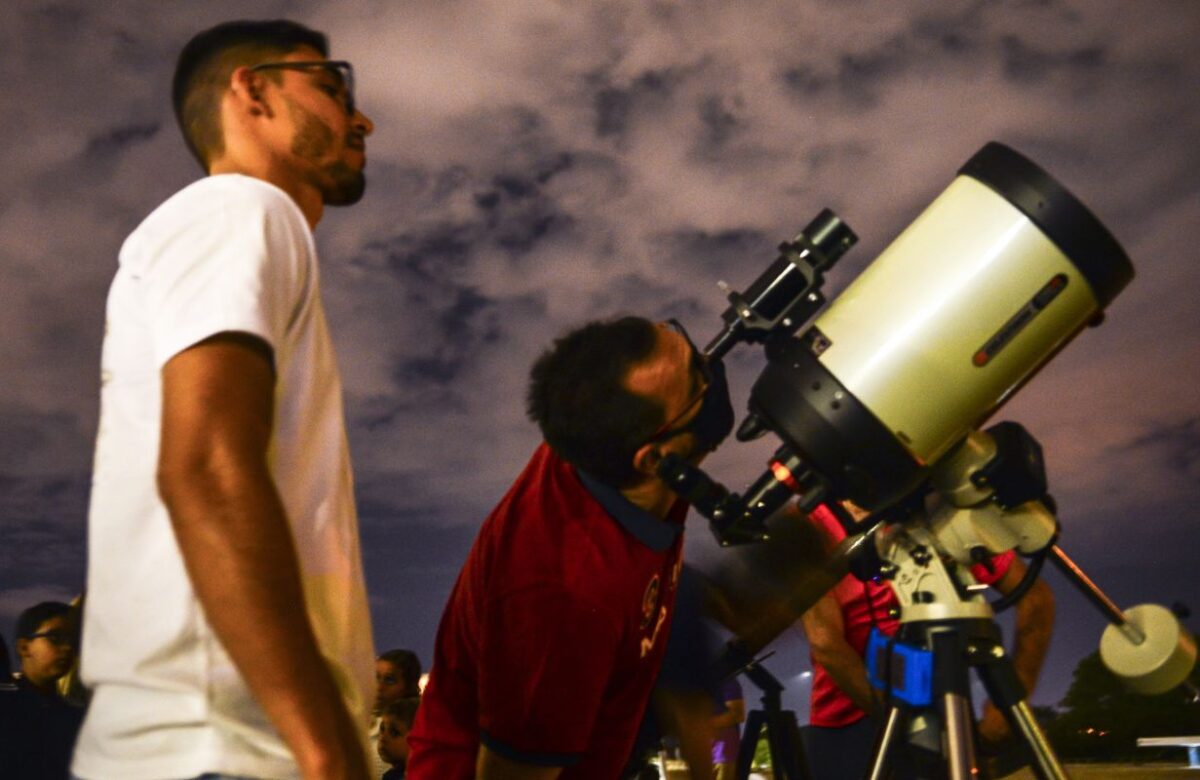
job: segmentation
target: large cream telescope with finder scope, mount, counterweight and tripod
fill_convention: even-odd
[[[901,634],[908,629],[931,654],[952,626],[965,637],[955,647],[1002,656],[990,628],[994,605],[968,569],[1016,550],[1034,559],[1016,598],[1051,560],[1112,624],[1102,641],[1110,670],[1141,692],[1184,683],[1196,647],[1178,620],[1154,605],[1126,614],[1058,547],[1037,440],[1014,422],[979,430],[1084,328],[1103,320],[1134,275],[1120,244],[1046,172],[998,143],[973,155],[826,306],[824,275],[856,241],[845,222],[822,211],[779,246],[744,293],[728,293],[724,326],[703,349],[720,360],[739,343],[763,347],[767,364],[737,431],[742,442],[779,439],[762,475],[734,493],[667,456],[660,476],[708,517],[724,546],[770,544],[768,518],[786,504],[804,512],[824,504],[853,540],[856,574],[890,581]],[[869,517],[853,522],[847,502]],[[894,652],[889,646],[892,662]],[[980,672],[976,658],[937,658],[976,668],[1039,774],[1066,776],[1010,670]],[[968,702],[961,691],[944,695],[941,722],[953,733],[942,744],[960,746],[948,757],[950,775],[972,776],[973,756],[961,749],[970,744]],[[898,712],[889,713],[881,756]]]

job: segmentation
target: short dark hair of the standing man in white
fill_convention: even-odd
[[[170,101],[184,140],[205,172],[212,157],[224,151],[221,96],[233,72],[290,54],[301,46],[329,56],[323,32],[287,19],[226,22],[187,42],[175,64]]]

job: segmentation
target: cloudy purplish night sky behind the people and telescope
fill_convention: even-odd
[[[1062,544],[1120,604],[1200,608],[1200,4],[11,0],[0,631],[84,581],[116,252],[198,175],[174,58],[204,26],[276,16],[330,35],[376,122],[366,198],[317,234],[380,648],[428,659],[478,524],[536,444],[526,372],[556,334],[634,312],[707,341],[716,282],[744,288],[823,206],[860,236],[835,294],[989,140],[1070,188],[1138,272],[1003,418],[1042,442]],[[732,355],[738,408],[762,362]],[[740,488],[769,450],[730,444],[710,470]],[[714,558],[702,521],[688,548]],[[1103,629],[1049,578],[1037,703]],[[768,666],[794,679],[804,646],[779,646]]]

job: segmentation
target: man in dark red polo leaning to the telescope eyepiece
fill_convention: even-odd
[[[728,434],[678,324],[590,323],[534,364],[538,448],[475,539],[409,734],[409,780],[612,780],[653,688],[686,506],[656,475]]]

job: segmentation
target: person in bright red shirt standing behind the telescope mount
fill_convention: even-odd
[[[818,506],[811,518],[833,541],[846,536],[827,508]],[[1025,576],[1025,564],[1007,552],[992,559],[990,570],[973,566],[972,574],[980,583],[1008,593]],[[858,780],[865,775],[883,703],[880,691],[866,679],[863,656],[872,626],[888,636],[896,632],[900,624],[890,614],[896,605],[889,584],[862,582],[851,575],[800,618],[812,660],[812,697],[804,746],[814,780]],[[1054,593],[1037,580],[1016,602],[1012,659],[1026,695],[1037,684],[1052,623]],[[991,702],[984,706],[979,734],[994,744],[1010,736],[1008,722]]]

